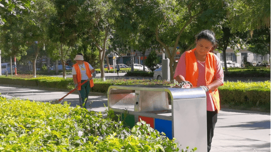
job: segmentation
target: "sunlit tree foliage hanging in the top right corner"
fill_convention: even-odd
[[[268,28],[269,35],[271,35],[270,0],[254,0],[253,2],[251,0],[229,0],[229,4],[228,18],[233,32],[250,31],[252,36],[254,30]],[[271,55],[271,39],[269,54]]]

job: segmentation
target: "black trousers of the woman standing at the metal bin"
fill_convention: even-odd
[[[217,111],[207,111],[207,151],[211,150],[214,127],[217,122]]]

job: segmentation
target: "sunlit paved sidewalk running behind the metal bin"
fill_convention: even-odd
[[[0,85],[2,96],[49,102],[62,98],[68,91],[55,91],[36,87]],[[78,93],[69,94],[63,101],[78,105]],[[104,112],[107,106],[105,93],[91,92],[87,107]],[[218,114],[211,152],[271,152],[270,113],[223,108]],[[197,152],[197,151],[196,151]]]

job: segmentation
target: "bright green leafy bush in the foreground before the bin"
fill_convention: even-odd
[[[178,145],[145,122],[131,130],[67,103],[0,97],[1,152],[178,152]],[[192,150],[194,152],[194,150]]]

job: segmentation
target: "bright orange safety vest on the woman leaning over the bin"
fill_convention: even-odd
[[[192,83],[193,86],[197,86],[199,69],[197,65],[197,59],[195,56],[195,49],[187,51],[185,54],[185,62],[186,62],[186,77],[185,80]],[[213,53],[208,52],[205,59],[205,82],[206,85],[209,85],[214,81],[214,76],[216,73],[215,66],[215,56]],[[220,100],[218,89],[214,91],[209,91],[213,100],[213,104],[217,111],[220,110]]]

